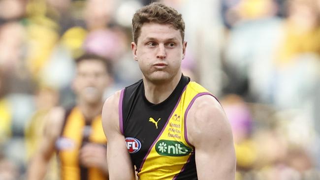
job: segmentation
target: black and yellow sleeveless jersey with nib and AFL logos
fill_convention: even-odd
[[[204,94],[211,95],[185,76],[159,104],[146,99],[142,80],[121,91],[120,130],[140,180],[197,180],[186,117],[194,100]]]

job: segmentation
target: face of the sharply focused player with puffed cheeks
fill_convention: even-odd
[[[131,43],[133,58],[148,81],[166,82],[181,76],[187,42],[182,42],[179,30],[169,24],[146,23],[137,41]]]

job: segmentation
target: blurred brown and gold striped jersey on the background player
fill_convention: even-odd
[[[86,168],[79,163],[79,150],[86,143],[96,143],[106,148],[106,138],[102,129],[101,115],[91,123],[74,107],[66,111],[61,136],[56,149],[61,165],[61,180],[107,180],[97,168]]]

